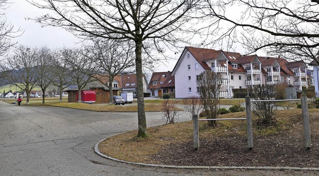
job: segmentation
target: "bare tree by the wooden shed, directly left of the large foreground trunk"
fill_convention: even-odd
[[[129,73],[135,66],[133,47],[128,41],[105,40],[95,37],[93,45],[85,46],[85,57],[97,65],[96,73],[91,75],[109,88],[110,104],[113,102],[114,77]]]

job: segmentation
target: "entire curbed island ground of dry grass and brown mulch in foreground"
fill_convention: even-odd
[[[130,162],[176,166],[272,166],[319,168],[319,109],[310,109],[312,147],[304,146],[301,109],[279,110],[278,125],[254,127],[254,148],[247,148],[245,121],[223,121],[217,129],[200,122],[200,148],[192,141],[192,122],[149,128],[149,138],[136,131],[113,136],[102,143],[102,153]],[[244,117],[245,112],[221,115]]]

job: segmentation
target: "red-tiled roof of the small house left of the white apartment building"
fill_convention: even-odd
[[[154,72],[152,74],[149,89],[175,87],[175,77],[171,75],[172,72]],[[158,82],[158,85],[153,85],[153,82]],[[161,84],[160,84],[161,83]]]

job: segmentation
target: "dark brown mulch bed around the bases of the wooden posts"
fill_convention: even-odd
[[[200,148],[193,141],[170,144],[157,155],[153,164],[175,166],[271,166],[319,168],[319,137],[312,136],[312,147],[305,148],[302,126],[276,136],[254,136],[254,147],[247,148],[247,138],[227,136],[200,140]],[[302,132],[302,131],[301,131]]]

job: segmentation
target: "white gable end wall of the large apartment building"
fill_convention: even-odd
[[[189,58],[187,58],[187,54],[189,54]],[[197,70],[195,68],[195,64],[198,65]],[[190,69],[188,69],[188,65],[190,65]],[[178,65],[175,68],[174,73],[175,97],[185,98],[187,96],[199,96],[199,94],[197,93],[196,75],[200,75],[203,71],[205,70],[201,67],[197,60],[188,52],[188,50],[184,50],[184,52],[181,54],[181,58],[179,60]],[[190,81],[188,81],[188,77],[190,77]]]

